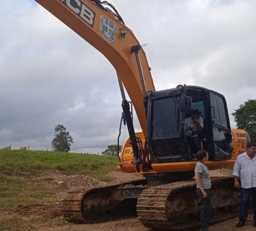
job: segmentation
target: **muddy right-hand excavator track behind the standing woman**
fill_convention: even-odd
[[[180,181],[143,190],[138,198],[137,214],[141,223],[154,230],[190,230],[200,225],[200,210],[194,181]],[[233,178],[212,179],[211,222],[237,215],[240,193]]]

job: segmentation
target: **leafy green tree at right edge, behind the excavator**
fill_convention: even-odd
[[[232,116],[235,117],[237,128],[246,130],[251,142],[256,143],[256,100],[247,100]]]

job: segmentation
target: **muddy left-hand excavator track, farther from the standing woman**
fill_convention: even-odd
[[[146,180],[135,180],[69,191],[63,199],[64,218],[69,222],[94,223],[136,215],[137,198],[146,187]]]

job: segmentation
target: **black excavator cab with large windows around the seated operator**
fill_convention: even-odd
[[[204,121],[202,132],[196,136],[199,149],[208,151],[209,160],[231,158],[232,133],[224,96],[186,86],[149,95],[148,147],[154,164],[192,160],[185,136],[185,118],[191,116],[192,110],[201,111]]]

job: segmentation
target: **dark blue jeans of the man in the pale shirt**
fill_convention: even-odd
[[[252,196],[254,202],[254,219],[256,219],[256,188],[241,188],[241,204],[239,219],[242,222],[246,221],[249,201]]]

